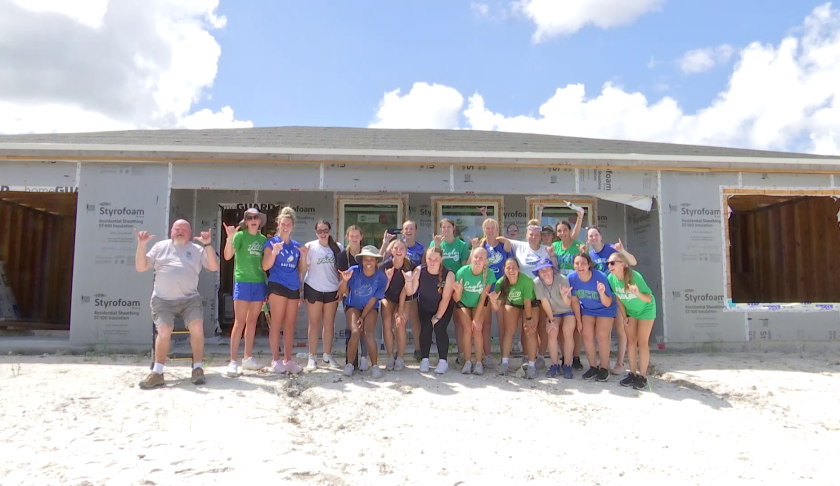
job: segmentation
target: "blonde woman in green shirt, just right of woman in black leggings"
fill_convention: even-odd
[[[461,335],[458,352],[463,353],[464,368],[461,373],[484,373],[484,312],[487,294],[493,286],[493,271],[487,267],[487,250],[476,248],[470,254],[470,264],[455,273],[455,332]],[[472,347],[475,344],[475,369],[472,365]],[[460,357],[460,356],[459,356]]]

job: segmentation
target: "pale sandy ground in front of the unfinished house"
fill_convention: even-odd
[[[223,361],[146,391],[148,357],[0,357],[0,484],[838,483],[836,354],[655,353],[645,392]]]

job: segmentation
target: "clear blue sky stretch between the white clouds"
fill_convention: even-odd
[[[506,116],[536,114],[558,87],[583,83],[595,94],[607,81],[650,100],[669,95],[687,112],[707,106],[731,68],[685,75],[684,52],[751,42],[775,44],[818,2],[682,0],[632,25],[589,26],[535,44],[534,24],[489,16],[474,2],[222,1],[226,27],[212,99],[199,108],[234,106],[256,126],[367,126],[382,95],[417,81],[480,92]],[[760,12],[760,15],[756,15]],[[656,63],[649,67],[650,61]]]

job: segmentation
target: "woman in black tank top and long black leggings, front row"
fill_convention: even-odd
[[[414,272],[405,273],[406,293],[417,291],[417,310],[420,316],[420,371],[429,371],[429,349],[432,347],[432,332],[438,348],[438,364],[435,373],[443,374],[449,369],[446,361],[449,351],[447,328],[455,308],[452,301],[455,274],[443,266],[443,252],[440,248],[426,250],[426,264]]]

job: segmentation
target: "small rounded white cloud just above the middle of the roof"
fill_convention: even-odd
[[[400,96],[396,89],[385,93],[371,128],[457,128],[464,97],[455,88],[414,83]]]

